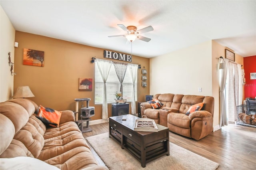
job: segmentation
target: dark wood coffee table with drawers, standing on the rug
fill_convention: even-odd
[[[169,129],[156,124],[158,132],[134,131],[136,119],[140,118],[130,114],[110,117],[109,137],[120,143],[121,148],[139,160],[144,168],[146,163],[170,155]]]

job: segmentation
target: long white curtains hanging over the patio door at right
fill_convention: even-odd
[[[228,121],[237,121],[236,107],[242,104],[243,93],[241,65],[228,59],[224,61],[220,79],[220,127],[228,125]]]

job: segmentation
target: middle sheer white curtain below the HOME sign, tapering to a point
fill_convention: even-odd
[[[123,81],[124,81],[124,76],[127,70],[127,63],[121,63],[121,62],[116,62],[113,61],[115,70],[116,70],[116,75],[118,77],[118,80],[120,82],[120,92],[122,93],[123,96]]]

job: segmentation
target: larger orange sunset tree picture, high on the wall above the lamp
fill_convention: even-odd
[[[23,64],[44,67],[44,51],[24,48]]]

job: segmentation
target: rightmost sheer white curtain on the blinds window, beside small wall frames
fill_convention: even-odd
[[[132,103],[131,103],[131,113],[135,114],[136,113],[136,104],[135,104],[135,81],[138,73],[138,65],[137,64],[129,64],[128,65],[131,77],[132,77]]]

